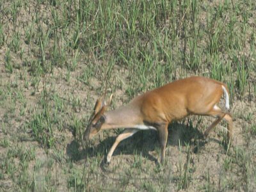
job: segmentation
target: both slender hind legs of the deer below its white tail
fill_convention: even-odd
[[[206,129],[206,131],[204,132],[204,138],[207,138],[207,136],[212,131],[212,129],[216,127],[216,125],[220,123],[220,121],[224,118],[228,123],[228,133],[227,133],[228,141],[232,139],[233,129],[232,129],[232,117],[230,113],[224,112],[217,105],[214,105],[212,110],[206,113],[205,115],[217,116],[217,119],[214,122],[212,122],[212,124]]]

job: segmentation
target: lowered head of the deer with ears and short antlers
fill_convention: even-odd
[[[102,124],[104,124],[106,120],[104,113],[106,112],[111,103],[113,94],[110,95],[108,103],[106,103],[104,100],[105,95],[106,94],[97,99],[95,103],[93,113],[89,118],[88,125],[83,135],[83,139],[86,141],[88,141],[90,138],[92,138],[92,136],[94,136],[95,134],[97,134],[97,132],[100,131]]]

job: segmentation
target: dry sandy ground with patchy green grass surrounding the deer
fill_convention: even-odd
[[[3,191],[255,191],[254,1],[0,3],[0,188]],[[139,132],[104,163],[115,136],[81,140],[97,97],[111,109],[187,76],[227,83],[236,145],[221,123],[170,125],[166,161]],[[148,140],[150,138],[150,140]],[[180,142],[179,142],[180,141]],[[217,171],[215,171],[217,170]]]

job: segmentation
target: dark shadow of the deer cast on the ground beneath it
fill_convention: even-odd
[[[90,147],[81,147],[81,143],[77,140],[71,141],[67,145],[67,156],[71,161],[79,161],[81,159],[87,159],[95,157],[98,154],[103,154],[104,159],[102,163],[106,162],[106,155],[113,143],[115,142],[116,136],[109,136],[103,141],[100,141],[97,145],[90,145]],[[198,148],[202,148],[205,145],[202,132],[198,131],[195,127],[188,124],[180,124],[174,122],[168,127],[168,143],[167,146],[179,146],[186,145],[189,143],[190,147],[193,148],[193,152],[198,152]],[[150,161],[158,163],[158,156],[152,156],[149,154],[151,151],[155,151],[159,148],[159,140],[157,131],[140,131],[134,134],[131,138],[119,143],[116,147],[113,157],[122,154],[141,154]]]

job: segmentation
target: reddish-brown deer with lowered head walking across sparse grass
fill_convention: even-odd
[[[227,122],[227,138],[232,140],[232,116],[228,110],[229,92],[227,84],[207,77],[193,76],[168,83],[164,86],[138,95],[127,105],[107,111],[113,94],[108,102],[104,100],[106,93],[97,99],[93,113],[89,118],[83,140],[90,140],[102,130],[125,128],[116,137],[107,155],[107,163],[111,161],[117,145],[140,130],[158,132],[161,146],[161,163],[164,162],[168,125],[173,120],[181,120],[188,115],[212,116],[216,120],[204,132],[204,139],[214,127],[224,119]],[[218,104],[224,95],[223,111]]]

